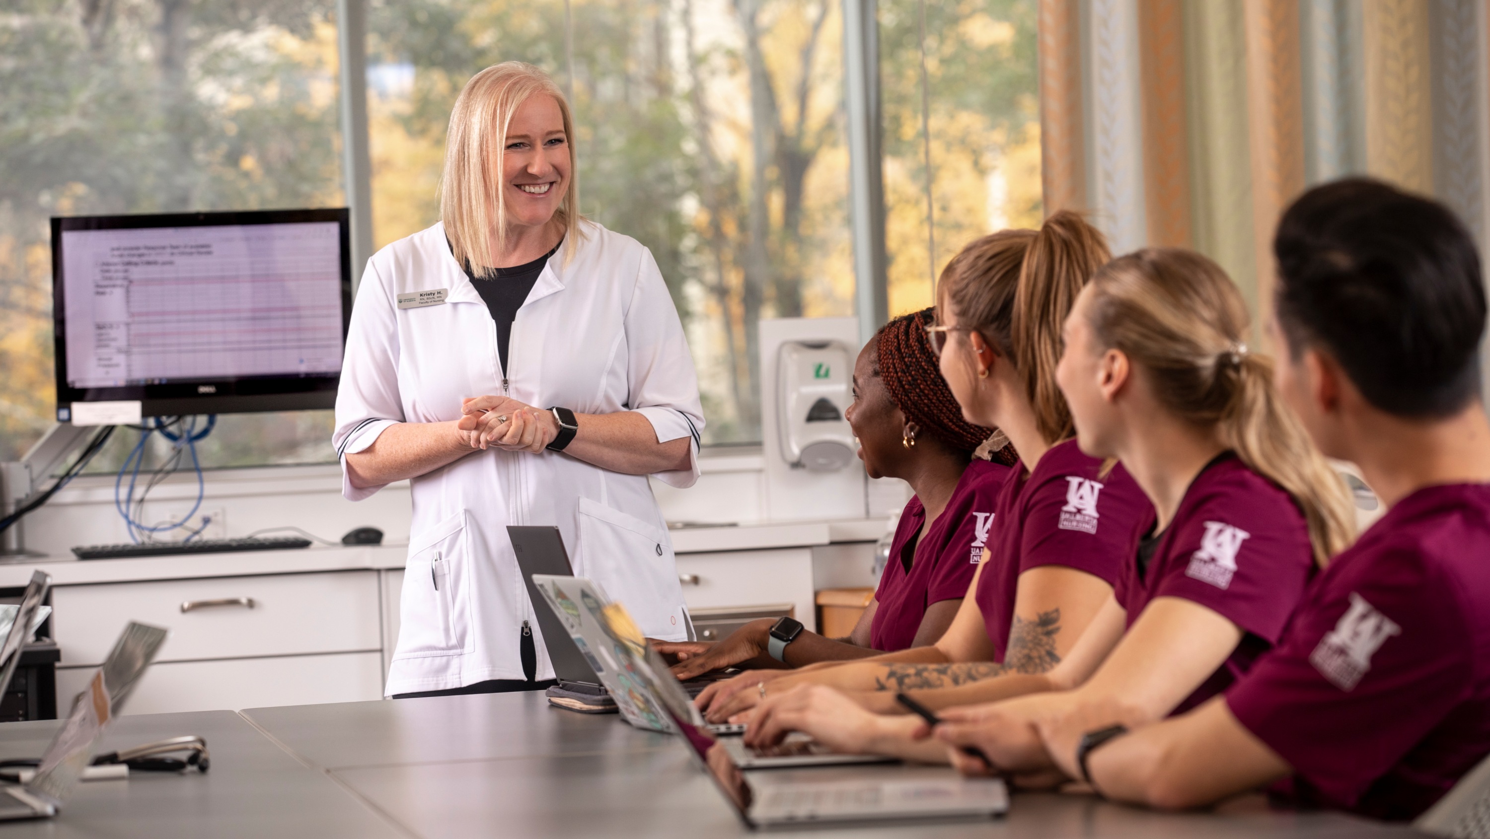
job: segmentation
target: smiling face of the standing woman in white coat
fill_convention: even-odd
[[[547,225],[569,189],[569,137],[563,112],[547,94],[517,107],[502,149],[502,201],[508,227]]]

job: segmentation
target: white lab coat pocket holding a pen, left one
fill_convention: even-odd
[[[395,659],[459,656],[471,638],[465,511],[410,541]]]

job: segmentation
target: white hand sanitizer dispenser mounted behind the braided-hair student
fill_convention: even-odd
[[[776,368],[781,455],[793,468],[833,472],[854,462],[854,361],[840,341],[785,341]]]

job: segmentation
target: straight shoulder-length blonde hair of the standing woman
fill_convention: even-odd
[[[547,94],[563,115],[569,148],[569,186],[554,213],[572,243],[580,232],[578,161],[574,152],[574,119],[559,85],[532,64],[504,61],[481,70],[466,82],[450,110],[446,134],[446,168],[440,176],[440,218],[456,261],[472,270],[496,267],[490,232],[499,249],[507,247],[507,200],[502,189],[502,151],[507,128],[517,109],[533,94]],[[495,200],[493,200],[495,198]]]

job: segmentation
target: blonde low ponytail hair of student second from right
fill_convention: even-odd
[[[1192,250],[1138,250],[1097,271],[1091,295],[1098,344],[1143,367],[1167,410],[1216,426],[1247,468],[1287,492],[1320,565],[1350,545],[1345,483],[1272,389],[1272,359],[1243,343],[1247,305],[1220,265]]]

